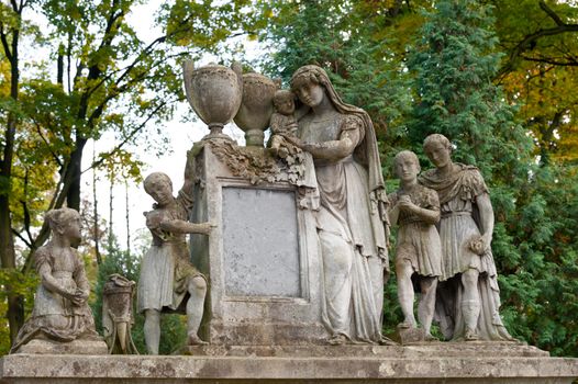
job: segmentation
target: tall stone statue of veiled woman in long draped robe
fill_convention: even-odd
[[[321,196],[314,214],[329,342],[379,342],[388,224],[371,120],[345,104],[318,66],[299,68],[291,89],[308,111],[298,121],[299,137],[286,138],[312,155]]]

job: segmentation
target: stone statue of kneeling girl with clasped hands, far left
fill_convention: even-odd
[[[95,329],[95,319],[87,303],[90,284],[85,264],[70,246],[80,240],[80,215],[71,208],[59,208],[48,211],[45,217],[52,238],[34,252],[41,284],[36,290],[32,315],[20,329],[11,352],[59,353],[62,351],[51,348],[82,339],[100,341],[102,348],[88,351],[88,343],[85,343],[85,351],[80,353],[107,353],[107,345]],[[38,339],[52,342],[43,343],[44,347],[36,346],[37,350],[34,349],[36,347],[24,348],[31,340]],[[75,352],[74,348],[68,352]]]

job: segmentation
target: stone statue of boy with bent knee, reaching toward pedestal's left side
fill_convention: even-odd
[[[190,158],[190,157],[189,157]],[[153,244],[141,263],[138,279],[138,312],[145,314],[144,334],[149,354],[158,354],[160,313],[187,315],[187,343],[204,345],[197,335],[203,314],[207,279],[190,262],[186,234],[208,235],[209,223],[189,223],[192,207],[191,161],[187,161],[185,183],[173,196],[173,182],[162,172],[151,173],[144,189],[156,203],[145,212],[146,226]]]

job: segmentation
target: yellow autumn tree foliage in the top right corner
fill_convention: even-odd
[[[505,53],[498,80],[532,133],[542,165],[578,154],[578,9],[567,1],[497,1],[496,31]]]

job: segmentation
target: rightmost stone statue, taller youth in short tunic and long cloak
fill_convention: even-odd
[[[425,138],[435,166],[420,183],[440,196],[442,275],[436,313],[442,331],[454,340],[513,340],[500,318],[500,289],[491,252],[493,210],[476,167],[452,161],[452,144],[440,134]]]

